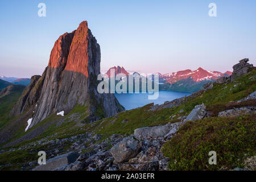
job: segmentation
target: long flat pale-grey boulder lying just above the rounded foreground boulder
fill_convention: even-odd
[[[139,140],[156,139],[160,137],[168,137],[175,134],[179,129],[181,122],[168,123],[166,125],[154,127],[142,127],[134,130],[134,137]]]

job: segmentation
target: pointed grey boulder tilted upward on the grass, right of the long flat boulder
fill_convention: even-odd
[[[195,106],[195,109],[193,109],[191,113],[188,114],[188,117],[184,120],[184,122],[203,119],[206,114],[207,114],[207,110],[205,105],[204,104],[197,105]]]

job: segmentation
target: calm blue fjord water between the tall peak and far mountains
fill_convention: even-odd
[[[165,101],[172,101],[190,94],[189,92],[159,91],[159,97],[156,100],[148,100],[148,93],[115,93],[115,97],[126,110],[130,110],[152,102],[159,105],[164,104]]]

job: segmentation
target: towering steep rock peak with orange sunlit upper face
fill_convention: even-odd
[[[33,108],[32,127],[53,113],[68,114],[75,106],[88,108],[89,121],[122,111],[114,94],[97,92],[100,60],[100,45],[87,22],[81,22],[77,30],[56,40],[48,67],[41,77],[31,78],[11,115]]]

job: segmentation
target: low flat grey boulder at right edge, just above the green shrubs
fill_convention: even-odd
[[[230,110],[224,110],[218,113],[218,117],[235,117],[238,115],[243,114],[255,114],[256,113],[256,107],[241,107],[237,109],[230,109]]]

